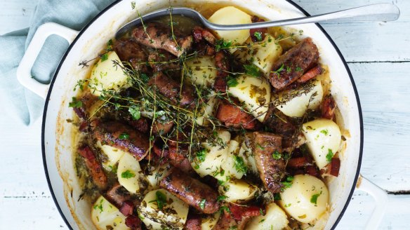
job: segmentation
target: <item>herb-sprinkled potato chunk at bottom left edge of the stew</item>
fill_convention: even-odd
[[[107,201],[104,196],[100,196],[91,209],[91,220],[97,229],[100,230],[129,229],[125,225],[125,218],[118,208]]]

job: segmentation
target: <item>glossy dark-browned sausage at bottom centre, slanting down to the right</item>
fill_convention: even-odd
[[[218,193],[177,168],[164,177],[159,186],[201,212],[211,214],[219,210]]]

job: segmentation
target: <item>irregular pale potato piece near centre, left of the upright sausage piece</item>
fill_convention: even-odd
[[[219,130],[217,132],[218,138],[224,143],[213,144],[211,142],[202,143],[202,147],[206,149],[204,161],[192,161],[191,165],[201,177],[206,175],[214,175],[216,170],[221,170],[223,161],[227,156],[228,146],[230,142],[230,133],[227,130]]]

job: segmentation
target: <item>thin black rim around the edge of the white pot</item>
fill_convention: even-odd
[[[72,49],[72,47],[74,46],[74,44],[78,41],[79,37],[81,37],[81,35],[86,31],[86,29],[88,29],[88,27],[95,21],[98,20],[98,18],[100,18],[100,16],[102,14],[104,14],[106,11],[108,11],[110,8],[112,8],[113,6],[117,5],[121,0],[117,0],[114,1],[112,4],[110,4],[110,6],[107,6],[104,10],[102,10],[100,13],[98,13],[98,15],[95,15],[95,17],[88,22],[88,24],[81,29],[81,31],[79,32],[78,36],[76,37],[76,39],[74,39],[74,41],[70,44],[70,46],[67,48],[67,51],[65,52],[65,54],[62,56],[60,63],[58,64],[57,69],[55,69],[55,73],[53,75],[53,79],[51,79],[51,83],[50,83],[50,88],[48,90],[47,93],[47,97],[46,97],[46,102],[44,104],[44,111],[43,111],[43,122],[41,125],[41,151],[42,151],[42,156],[43,156],[43,165],[44,165],[44,172],[46,173],[46,179],[47,179],[47,184],[48,184],[48,189],[50,189],[51,192],[51,196],[53,197],[53,201],[55,203],[55,206],[57,207],[58,212],[60,212],[60,215],[62,217],[62,219],[64,220],[65,224],[67,224],[67,226],[70,229],[73,229],[73,227],[70,225],[70,223],[68,222],[67,218],[65,217],[64,213],[62,212],[60,205],[58,204],[57,198],[55,198],[55,194],[53,191],[53,187],[51,185],[51,180],[50,177],[48,176],[48,168],[47,168],[47,162],[46,162],[46,145],[45,145],[45,140],[44,140],[44,131],[46,130],[46,114],[47,114],[47,109],[48,109],[48,101],[50,100],[50,95],[51,95],[51,91],[53,90],[53,86],[55,83],[55,79],[58,75],[58,72],[60,72],[60,68],[62,63],[65,61],[65,58],[67,57],[67,54],[70,53],[70,50]],[[307,13],[303,8],[301,8],[298,4],[294,3],[291,0],[286,0],[287,2],[289,2],[289,4],[291,4],[292,6],[295,6],[296,8],[298,8],[299,11],[301,11],[302,13],[304,13],[307,16],[310,16],[309,13]],[[358,108],[358,113],[359,113],[359,124],[360,124],[360,148],[359,148],[359,159],[357,161],[357,171],[356,171],[356,175],[355,175],[355,180],[352,184],[352,188],[350,189],[350,194],[348,196],[348,201],[346,201],[343,210],[340,212],[340,215],[338,216],[338,219],[336,219],[336,222],[333,224],[333,226],[331,227],[331,229],[335,229],[336,226],[338,225],[338,222],[340,222],[340,219],[342,219],[343,214],[345,213],[346,208],[348,208],[348,205],[350,203],[350,199],[353,196],[353,192],[355,191],[355,187],[356,187],[356,183],[357,183],[357,179],[359,177],[360,174],[360,166],[362,164],[362,154],[363,154],[363,116],[362,116],[362,107],[360,106],[360,101],[359,101],[359,94],[357,93],[357,88],[355,85],[355,81],[353,79],[352,73],[350,72],[350,69],[348,67],[348,63],[346,63],[345,58],[343,57],[342,53],[340,53],[340,50],[338,49],[338,47],[336,46],[336,43],[334,43],[334,41],[331,39],[331,37],[329,36],[329,34],[327,34],[327,32],[323,29],[323,27],[321,25],[319,25],[318,23],[315,23],[315,25],[322,31],[322,33],[326,36],[326,38],[330,41],[330,43],[332,44],[333,48],[336,50],[336,52],[338,53],[340,60],[342,60],[343,65],[345,66],[346,71],[349,74],[350,77],[350,81],[352,83],[352,88],[355,91],[355,97],[356,97],[356,101],[357,101],[357,108]]]

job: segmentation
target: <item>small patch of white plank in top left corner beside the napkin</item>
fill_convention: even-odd
[[[1,0],[0,34],[6,34],[16,29],[29,27],[38,1],[32,0]]]

